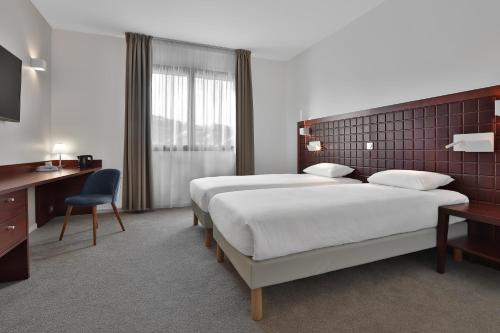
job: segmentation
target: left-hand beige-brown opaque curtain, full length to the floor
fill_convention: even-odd
[[[126,33],[124,209],[151,208],[151,37]]]

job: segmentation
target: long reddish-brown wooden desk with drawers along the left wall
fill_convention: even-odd
[[[38,226],[64,215],[64,199],[80,192],[88,175],[101,168],[100,160],[80,170],[76,161],[64,161],[55,172],[36,172],[44,162],[0,166],[0,282],[30,276],[28,248],[28,188],[35,187]],[[87,213],[85,209],[75,213]]]

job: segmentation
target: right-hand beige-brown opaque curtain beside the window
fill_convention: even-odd
[[[253,98],[250,51],[236,50],[236,174],[253,175]]]

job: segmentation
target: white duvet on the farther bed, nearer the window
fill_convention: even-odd
[[[189,191],[191,199],[198,207],[208,212],[210,199],[219,193],[266,188],[357,183],[361,183],[361,181],[346,177],[329,178],[309,174],[220,176],[194,179],[189,184]]]

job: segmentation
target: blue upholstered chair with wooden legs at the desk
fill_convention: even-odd
[[[113,212],[115,213],[118,223],[125,231],[118,209],[115,205],[116,195],[118,192],[118,185],[120,181],[120,171],[116,169],[103,169],[91,174],[85,184],[83,185],[82,192],[79,195],[66,198],[64,202],[68,206],[64,224],[61,230],[59,240],[62,240],[64,231],[68,225],[69,217],[74,206],[88,207],[92,206],[92,229],[94,232],[94,246],[96,245],[96,229],[99,227],[97,224],[97,206],[104,204],[111,204]]]

